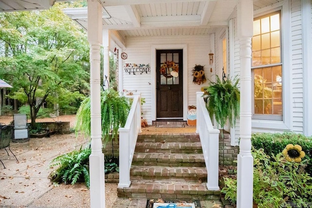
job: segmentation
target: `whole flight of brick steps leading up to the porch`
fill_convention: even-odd
[[[118,197],[162,199],[219,199],[207,189],[207,170],[196,133],[144,133],[137,139],[129,188]]]

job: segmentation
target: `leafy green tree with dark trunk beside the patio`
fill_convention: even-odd
[[[71,106],[89,93],[89,44],[62,11],[0,13],[0,76],[11,97],[30,108],[34,127],[44,103]]]

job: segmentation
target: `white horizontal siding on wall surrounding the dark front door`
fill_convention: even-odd
[[[210,36],[159,36],[159,37],[127,37],[126,49],[123,52],[128,54],[128,58],[123,60],[123,67],[125,63],[136,64],[151,64],[151,48],[152,45],[174,45],[174,44],[187,44],[188,50],[188,66],[187,66],[187,82],[188,89],[183,89],[183,93],[188,94],[188,104],[196,105],[196,92],[200,88],[208,85],[208,81],[204,84],[198,85],[193,83],[192,68],[195,64],[205,66],[205,75],[210,79],[210,67],[208,54],[210,52]],[[126,73],[123,70],[123,89],[137,90],[141,96],[145,98],[146,103],[142,105],[143,117],[152,123],[152,109],[155,108],[156,103],[152,103],[152,76],[151,74],[133,75]],[[122,89],[122,90],[123,90]]]

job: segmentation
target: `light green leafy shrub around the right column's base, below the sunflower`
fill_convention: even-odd
[[[312,177],[304,171],[307,160],[288,162],[282,153],[270,157],[263,149],[255,150],[254,156],[254,203],[258,208],[287,207],[292,202],[304,207],[312,200]],[[221,190],[225,198],[236,202],[237,180],[224,178]]]

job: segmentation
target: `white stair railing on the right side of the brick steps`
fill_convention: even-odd
[[[199,134],[201,147],[203,149],[206,169],[207,169],[207,189],[218,190],[218,172],[219,172],[219,133],[214,129],[209,113],[206,109],[206,103],[203,98],[203,92],[196,93],[196,132]]]

